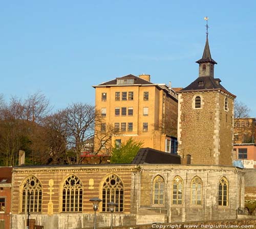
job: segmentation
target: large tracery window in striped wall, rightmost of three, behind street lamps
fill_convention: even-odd
[[[102,188],[102,212],[109,212],[108,203],[113,201],[117,204],[115,212],[123,211],[123,183],[120,178],[114,174],[110,174]]]

